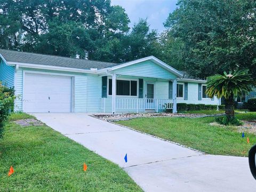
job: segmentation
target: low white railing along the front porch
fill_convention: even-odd
[[[106,106],[109,105],[108,98],[102,98],[101,109],[103,113],[106,111]],[[139,99],[139,98],[116,98],[115,109],[124,112],[136,111],[156,111],[173,109],[172,99]]]

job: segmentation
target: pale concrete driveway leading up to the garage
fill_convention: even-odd
[[[245,157],[205,155],[86,114],[33,115],[123,167],[145,191],[256,190]]]

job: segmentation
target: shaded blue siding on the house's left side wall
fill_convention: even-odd
[[[0,82],[8,87],[14,86],[14,67],[7,66],[2,59],[0,62]]]

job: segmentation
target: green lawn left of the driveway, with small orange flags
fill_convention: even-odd
[[[13,114],[10,119],[30,117]],[[11,165],[15,172],[7,177]],[[118,165],[50,127],[10,122],[0,140],[0,191],[142,190]]]

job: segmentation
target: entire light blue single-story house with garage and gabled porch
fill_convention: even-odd
[[[0,81],[14,86],[16,111],[175,113],[177,102],[220,104],[207,98],[206,81],[153,56],[109,63],[0,49],[0,57]]]

